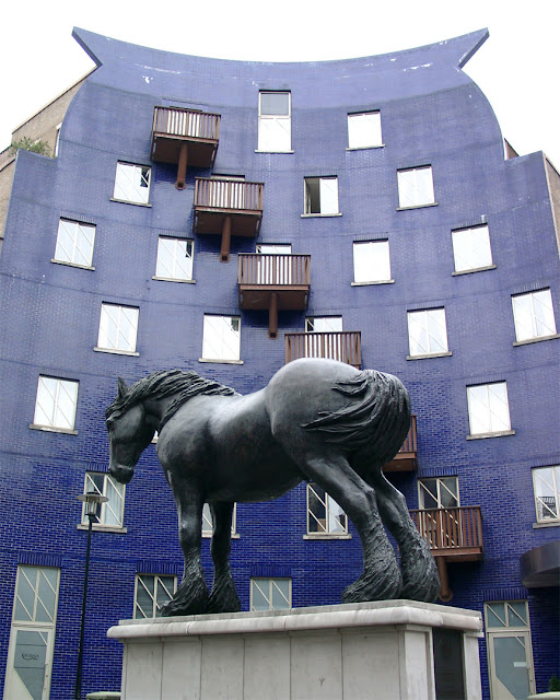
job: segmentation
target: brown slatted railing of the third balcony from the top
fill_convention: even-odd
[[[311,255],[240,255],[240,284],[308,287]]]

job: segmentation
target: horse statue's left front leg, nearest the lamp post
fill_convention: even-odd
[[[202,497],[186,482],[173,482],[179,518],[179,541],[185,557],[183,581],[173,598],[162,609],[163,617],[200,615],[208,609],[208,588],[202,571],[200,547],[202,537]]]

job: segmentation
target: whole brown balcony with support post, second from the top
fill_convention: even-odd
[[[231,236],[258,235],[264,189],[264,183],[196,178],[192,229],[195,233],[222,236],[222,262],[230,259]]]

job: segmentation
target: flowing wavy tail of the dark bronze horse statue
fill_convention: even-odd
[[[404,384],[392,374],[363,370],[352,380],[337,382],[332,390],[350,402],[337,411],[319,411],[303,428],[328,433],[327,442],[380,467],[390,462],[410,428],[410,399]]]

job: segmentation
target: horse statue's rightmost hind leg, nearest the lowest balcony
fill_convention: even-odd
[[[427,541],[415,527],[405,497],[380,470],[368,480],[375,487],[383,522],[398,542],[402,571],[401,597],[433,603],[440,592],[440,578]]]

